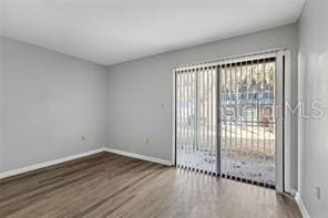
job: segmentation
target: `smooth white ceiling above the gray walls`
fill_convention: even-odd
[[[114,64],[294,23],[305,0],[0,0],[0,34]]]

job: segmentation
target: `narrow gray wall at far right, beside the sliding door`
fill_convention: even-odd
[[[314,218],[328,215],[328,1],[307,1],[299,21],[299,98],[325,105],[320,118],[299,120],[299,193]],[[318,200],[316,187],[321,188]]]

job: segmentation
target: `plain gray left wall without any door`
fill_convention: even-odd
[[[0,48],[1,172],[105,146],[104,66],[3,37]]]

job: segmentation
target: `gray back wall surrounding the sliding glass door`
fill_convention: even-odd
[[[171,159],[172,70],[175,65],[284,46],[293,52],[291,97],[297,101],[296,24],[168,52],[109,68],[107,146]],[[297,116],[293,117],[291,177],[297,186]],[[148,138],[148,143],[147,143]]]

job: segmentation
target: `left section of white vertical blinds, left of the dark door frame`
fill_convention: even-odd
[[[176,165],[217,173],[217,69],[176,72]]]

